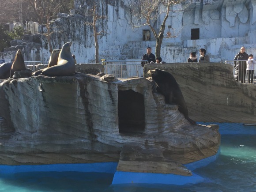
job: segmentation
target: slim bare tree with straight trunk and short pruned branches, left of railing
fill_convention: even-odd
[[[95,42],[95,63],[99,63],[99,44],[98,44],[98,36],[107,34],[107,32],[102,29],[98,31],[98,25],[103,24],[103,19],[106,19],[107,16],[99,14],[97,10],[98,4],[95,2],[92,6],[92,9],[89,9],[86,13],[86,16],[91,17],[91,22],[86,22],[87,25],[93,27],[94,34],[94,42]],[[103,25],[102,25],[103,26]]]

